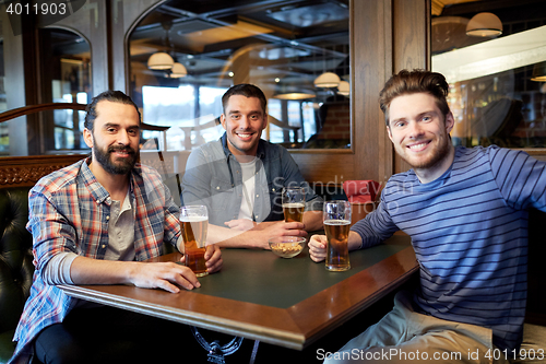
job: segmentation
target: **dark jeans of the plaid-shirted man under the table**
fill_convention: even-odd
[[[233,336],[200,330],[207,341],[226,344]],[[225,356],[248,363],[252,341]],[[45,363],[206,363],[207,352],[188,326],[112,307],[75,308],[62,324],[44,329],[35,341],[36,357]]]

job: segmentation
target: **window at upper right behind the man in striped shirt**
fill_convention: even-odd
[[[432,17],[432,70],[450,83],[453,143],[546,148],[546,83],[536,79],[539,71],[546,78],[546,3],[480,3],[453,4]],[[499,19],[500,35],[466,35],[483,12]]]

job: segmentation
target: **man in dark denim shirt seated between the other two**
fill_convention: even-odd
[[[269,249],[274,236],[306,236],[322,227],[322,199],[286,149],[262,140],[266,99],[251,84],[222,97],[224,136],[194,150],[182,179],[182,203],[209,209],[209,239],[223,247]],[[283,221],[283,187],[306,187],[304,223]]]

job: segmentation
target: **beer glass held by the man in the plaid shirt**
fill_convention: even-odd
[[[186,266],[190,267],[197,277],[209,274],[204,253],[209,213],[205,206],[183,206],[180,208],[180,230],[185,248]]]

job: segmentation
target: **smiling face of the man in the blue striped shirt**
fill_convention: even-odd
[[[444,116],[435,101],[428,93],[414,93],[393,98],[389,107],[389,138],[422,183],[441,176],[454,156],[448,137],[453,115]]]

